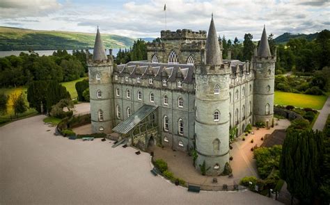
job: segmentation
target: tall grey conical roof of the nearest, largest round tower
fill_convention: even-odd
[[[213,22],[213,14],[212,14],[209,32],[207,33],[205,49],[206,49],[206,64],[209,65],[223,64],[218,35]]]

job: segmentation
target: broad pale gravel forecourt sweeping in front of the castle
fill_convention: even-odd
[[[281,204],[250,191],[187,192],[132,147],[54,136],[38,115],[0,127],[0,204]]]

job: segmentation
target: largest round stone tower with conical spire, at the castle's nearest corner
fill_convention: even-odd
[[[202,171],[205,162],[206,174],[215,176],[229,161],[230,69],[223,64],[213,15],[205,49],[205,65],[196,69],[196,169]]]

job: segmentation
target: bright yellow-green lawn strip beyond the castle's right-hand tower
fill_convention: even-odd
[[[304,95],[292,92],[275,91],[274,104],[283,106],[296,106],[300,108],[322,109],[327,96],[324,95]]]

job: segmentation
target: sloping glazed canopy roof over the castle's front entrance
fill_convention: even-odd
[[[141,108],[139,108],[139,110],[137,110],[123,122],[120,122],[120,124],[115,126],[112,130],[116,133],[129,133],[129,131],[132,131],[132,129],[134,129],[137,124],[139,124],[156,109],[157,106],[143,105]]]

